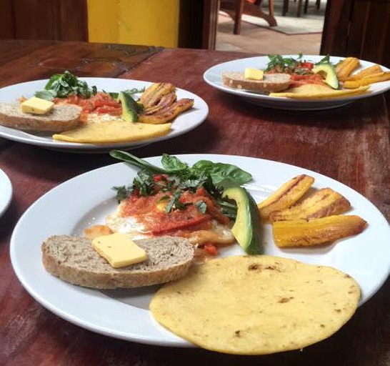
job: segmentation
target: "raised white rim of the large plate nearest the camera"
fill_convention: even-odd
[[[274,160],[269,160],[269,159],[261,159],[261,158],[256,158],[256,157],[244,157],[244,156],[240,156],[240,155],[230,155],[230,154],[176,154],[175,156],[179,157],[179,159],[189,157],[189,159],[203,158],[203,159],[213,159],[214,161],[219,161],[219,157],[225,157],[225,158],[234,157],[234,159],[243,159],[244,158],[244,159],[253,160],[254,162],[261,160],[261,161],[268,162],[271,164],[273,164],[273,163],[280,164],[281,167],[287,166],[290,168],[292,167],[294,169],[299,169],[299,170],[301,170],[302,174],[304,174],[304,172],[309,172],[311,174],[314,174],[317,177],[325,178],[327,180],[330,179],[331,182],[336,182],[337,185],[341,185],[341,186],[345,187],[346,189],[353,191],[354,194],[359,196],[361,199],[364,199],[364,201],[366,203],[370,204],[371,207],[376,211],[376,214],[379,214],[384,219],[384,221],[386,221],[386,218],[384,217],[383,214],[381,214],[379,209],[371,201],[369,201],[369,199],[366,199],[366,197],[364,197],[362,194],[360,194],[356,190],[352,189],[351,187],[349,187],[348,185],[346,185],[342,182],[337,181],[336,179],[333,179],[331,177],[327,177],[324,174],[317,173],[317,172],[311,171],[311,170],[306,169],[306,168],[298,167],[296,165],[287,164],[284,162],[276,162]],[[160,158],[161,158],[161,155],[156,155],[154,157],[148,157],[146,159],[160,159]],[[54,314],[58,315],[59,317],[63,318],[64,320],[67,320],[75,325],[80,326],[80,327],[84,327],[85,329],[88,329],[88,330],[91,330],[94,332],[98,332],[98,333],[103,334],[103,335],[108,335],[110,337],[115,337],[115,338],[119,338],[119,339],[123,339],[123,340],[140,342],[140,343],[150,344],[150,345],[162,345],[162,346],[166,346],[166,347],[194,347],[189,342],[186,342],[185,340],[182,340],[181,338],[179,338],[177,336],[174,336],[173,339],[171,338],[168,340],[164,340],[164,339],[157,340],[157,339],[154,339],[153,337],[141,337],[141,336],[137,335],[136,333],[130,332],[130,331],[126,332],[126,333],[121,333],[121,332],[118,332],[115,330],[113,331],[113,330],[106,329],[105,327],[103,327],[101,325],[90,325],[88,322],[85,322],[84,320],[80,320],[77,316],[69,315],[66,311],[61,310],[61,309],[55,307],[54,305],[51,305],[50,302],[47,302],[44,299],[44,297],[41,297],[41,295],[39,295],[34,290],[34,288],[31,287],[31,285],[28,283],[28,280],[26,280],[24,278],[23,274],[21,273],[21,269],[19,268],[19,266],[16,265],[16,253],[15,253],[16,236],[18,234],[18,231],[19,231],[21,225],[23,224],[24,218],[28,217],[28,215],[30,214],[31,211],[34,211],[34,207],[36,207],[36,205],[39,204],[39,202],[43,201],[44,199],[48,199],[48,197],[50,197],[50,195],[53,194],[52,192],[54,192],[54,191],[59,192],[62,189],[62,187],[64,187],[65,184],[69,184],[69,182],[76,182],[78,179],[80,179],[80,177],[86,177],[88,174],[91,174],[91,173],[100,174],[101,172],[104,172],[104,170],[108,169],[109,167],[111,167],[111,169],[116,169],[116,167],[119,168],[119,166],[123,167],[123,166],[126,166],[126,164],[124,164],[123,162],[109,164],[109,165],[106,165],[104,167],[92,169],[89,172],[84,172],[82,174],[77,175],[76,177],[72,177],[71,179],[68,179],[65,182],[54,187],[53,189],[50,189],[43,196],[41,196],[39,199],[37,199],[36,202],[34,202],[34,204],[31,204],[31,206],[26,210],[26,212],[24,212],[24,214],[18,220],[16,226],[14,227],[14,231],[12,233],[12,236],[11,236],[10,257],[11,257],[12,267],[14,269],[14,272],[16,273],[16,277],[18,277],[18,280],[21,282],[21,285],[24,287],[24,289],[27,292],[29,292],[29,294],[32,297],[34,297],[34,299],[37,302],[39,302],[42,306],[46,307],[46,309],[50,310],[51,312],[54,312]],[[135,168],[132,168],[132,169],[134,169],[136,171]],[[390,233],[390,231],[389,231],[389,233]],[[324,264],[324,265],[328,265],[328,264]],[[371,291],[369,296],[366,297],[364,302],[369,300],[384,285],[384,282],[386,282],[387,277],[389,276],[389,272],[390,272],[390,262],[389,262],[389,267],[388,267],[387,273],[382,276],[381,281],[378,283],[376,288],[374,288],[374,290]],[[59,281],[61,281],[61,280],[59,280]],[[74,285],[70,285],[70,286],[74,286]],[[94,290],[92,290],[92,291],[94,291]],[[116,300],[112,300],[112,301],[116,301]],[[359,306],[363,305],[364,302],[360,303]],[[126,306],[129,306],[129,305],[126,305]],[[149,312],[149,310],[145,310],[145,311]],[[176,340],[175,338],[178,338],[178,339]]]

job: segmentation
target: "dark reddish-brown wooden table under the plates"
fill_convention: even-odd
[[[389,104],[384,96],[329,111],[284,112],[246,104],[203,81],[209,66],[242,56],[145,46],[0,41],[0,86],[43,79],[65,69],[79,76],[171,81],[205,99],[209,117],[188,134],[134,150],[137,156],[238,154],[294,164],[356,189],[389,219]],[[1,140],[0,167],[11,179],[14,197],[0,217],[0,365],[390,365],[389,280],[328,340],[302,351],[262,357],[115,340],[45,310],[21,287],[11,268],[12,229],[49,189],[112,163],[107,154],[54,152]]]

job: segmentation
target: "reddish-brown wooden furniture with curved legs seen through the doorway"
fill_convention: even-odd
[[[234,34],[241,32],[241,18],[242,14],[249,14],[252,16],[259,16],[265,19],[270,26],[276,26],[276,19],[274,18],[274,0],[269,0],[269,13],[266,14],[261,9],[262,0],[254,0],[249,2],[247,0],[220,0],[219,9],[225,11],[231,19],[234,20]]]

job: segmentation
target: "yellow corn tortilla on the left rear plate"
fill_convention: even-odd
[[[171,124],[143,124],[121,120],[86,122],[76,129],[54,134],[53,139],[66,142],[109,144],[135,142],[168,134]]]

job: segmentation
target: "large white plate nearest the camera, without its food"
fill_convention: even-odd
[[[369,222],[359,235],[311,249],[278,249],[264,225],[266,254],[336,267],[353,276],[362,290],[361,304],[379,290],[389,274],[390,229],[371,202],[344,184],[321,174],[288,164],[229,155],[178,155],[189,164],[199,159],[236,164],[254,174],[248,184],[256,201],[298,174],[310,174],[314,187],[331,187],[343,194]],[[160,157],[148,159],[160,165]],[[165,330],[151,317],[148,305],[156,287],[136,290],[89,290],[70,285],[47,273],[41,263],[41,242],[53,234],[81,234],[91,224],[104,222],[116,209],[113,186],[129,184],[136,171],[119,163],[81,174],[46,193],[21,217],[11,237],[11,262],[21,284],[38,301],[76,325],[111,337],[165,346],[188,347],[189,343]],[[96,183],[98,182],[98,183]],[[93,189],[91,189],[93,187]],[[77,198],[76,198],[77,197]],[[72,204],[64,205],[64,202]],[[243,254],[238,244],[223,255]]]

